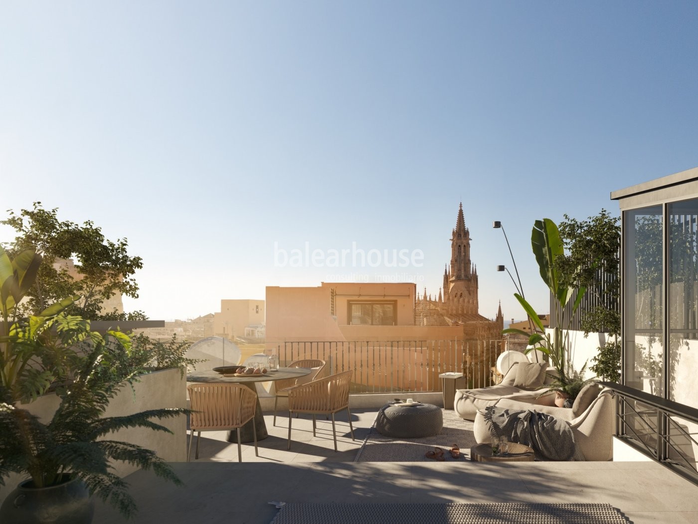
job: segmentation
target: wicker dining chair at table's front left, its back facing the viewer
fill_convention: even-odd
[[[191,444],[196,437],[195,459],[199,458],[199,440],[202,431],[223,431],[237,429],[237,460],[242,462],[242,448],[240,446],[240,428],[246,422],[254,419],[257,409],[257,395],[250,388],[242,384],[217,382],[214,384],[191,384],[187,386],[189,400],[191,400],[191,417],[189,427],[191,437],[186,452],[186,461],[191,456]],[[257,449],[257,428],[254,423],[253,435],[255,441],[255,455],[259,456]]]

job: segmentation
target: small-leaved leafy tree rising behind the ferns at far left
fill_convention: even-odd
[[[138,298],[138,284],[133,275],[143,267],[140,256],[129,256],[126,238],[108,240],[94,222],[82,225],[60,221],[58,209],[44,209],[40,202],[31,210],[15,213],[0,221],[17,232],[14,242],[6,244],[6,251],[15,256],[26,249],[43,254],[36,284],[29,289],[26,314],[38,314],[66,296],[79,295],[67,313],[84,319],[101,319],[104,300],[121,293]],[[54,265],[60,259],[74,259],[75,270],[82,275],[73,278],[66,268]],[[108,313],[113,319],[114,313]]]

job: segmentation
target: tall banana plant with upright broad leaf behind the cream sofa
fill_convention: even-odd
[[[586,287],[575,289],[560,284],[555,260],[558,256],[565,254],[565,250],[560,231],[554,221],[551,219],[536,220],[531,231],[530,240],[533,254],[540,270],[540,277],[556,298],[563,314],[565,306],[572,300],[572,308],[569,312],[566,326],[566,328],[569,328],[572,314],[579,308],[581,299],[584,297],[584,293],[586,293]],[[556,326],[553,329],[552,336],[550,333],[546,333],[543,323],[540,321],[540,316],[538,316],[526,299],[519,293],[514,293],[514,297],[516,297],[523,310],[526,311],[528,317],[533,321],[535,331],[534,333],[527,333],[520,329],[508,328],[503,330],[502,333],[516,333],[517,335],[528,337],[528,345],[532,347],[526,349],[526,354],[534,350],[541,351],[549,358],[551,365],[558,372],[559,380],[565,381],[569,373],[567,372],[567,361],[565,358],[563,328]]]

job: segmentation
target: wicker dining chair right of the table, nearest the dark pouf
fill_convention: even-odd
[[[291,449],[291,420],[294,413],[313,414],[313,437],[315,436],[315,414],[332,415],[332,437],[334,451],[337,451],[334,414],[346,409],[351,439],[354,440],[354,427],[349,411],[349,384],[352,374],[354,370],[348,370],[288,390],[288,449]]]

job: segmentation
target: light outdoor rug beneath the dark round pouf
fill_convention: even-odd
[[[433,437],[401,439],[385,437],[376,431],[376,423],[366,435],[354,462],[435,462],[426,458],[427,451],[439,447],[444,451],[446,461],[470,460],[470,448],[475,446],[473,423],[464,421],[452,409],[442,409],[443,430]],[[461,457],[455,459],[448,451],[453,444],[461,449]]]

